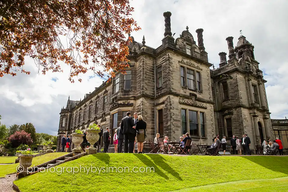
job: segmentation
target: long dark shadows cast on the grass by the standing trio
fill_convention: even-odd
[[[176,177],[178,180],[182,181],[182,178],[180,177],[179,173],[177,171],[175,171],[172,167],[170,167],[164,160],[164,158],[161,155],[156,155],[156,154],[146,154],[148,157],[150,157],[154,162],[152,162],[151,160],[149,160],[147,157],[145,157],[144,155],[137,155],[134,154],[138,159],[140,159],[146,166],[148,167],[152,167],[155,164],[159,167],[161,167],[163,170],[167,171],[168,173],[170,173],[171,175],[173,175],[174,177]],[[155,169],[155,167],[154,167]],[[162,171],[160,169],[157,168],[157,170],[155,169],[155,172],[158,173]],[[158,173],[159,174],[159,173]],[[164,177],[167,179],[168,177],[162,173],[159,174],[160,176],[164,175]],[[163,177],[163,176],[162,176]]]

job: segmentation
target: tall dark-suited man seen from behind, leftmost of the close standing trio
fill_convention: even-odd
[[[124,117],[121,121],[121,129],[124,134],[124,153],[133,153],[136,136],[135,128],[136,126],[134,124],[134,120],[131,117],[131,113],[127,112],[126,117]]]

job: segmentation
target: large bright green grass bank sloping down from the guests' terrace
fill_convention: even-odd
[[[287,177],[288,157],[168,156],[156,154],[98,153],[58,167],[154,167],[155,173],[36,173],[16,180],[30,191],[172,191],[201,185],[267,176]],[[27,185],[26,183],[29,183]]]

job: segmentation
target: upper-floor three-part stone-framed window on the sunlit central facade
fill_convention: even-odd
[[[185,66],[185,65],[183,65],[183,64],[179,64],[179,75],[180,75],[180,86],[183,88],[183,89],[188,89],[188,90],[190,90],[190,91],[194,91],[194,92],[198,92],[198,93],[203,93],[203,86],[202,86],[202,72],[200,71],[200,70],[197,70],[197,69],[195,69],[195,68],[193,68],[193,67],[187,67],[187,66]],[[183,76],[181,76],[181,67],[183,67],[184,68],[184,86],[182,86],[181,85],[181,78],[183,77]],[[194,89],[190,89],[189,87],[188,87],[188,78],[187,78],[187,69],[190,69],[190,70],[193,70],[194,71]],[[199,77],[200,77],[200,90],[198,90],[198,86],[197,86],[197,72],[199,72]]]

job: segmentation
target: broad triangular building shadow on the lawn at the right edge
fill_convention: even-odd
[[[280,156],[244,156],[243,158],[252,161],[272,171],[288,175],[288,157]]]

